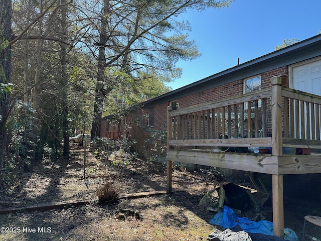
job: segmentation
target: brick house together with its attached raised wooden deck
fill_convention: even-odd
[[[147,155],[150,131],[167,131],[169,193],[177,161],[269,175],[274,234],[283,236],[283,175],[287,180],[317,175],[306,178],[310,183],[301,191],[312,183],[321,191],[321,184],[315,185],[321,173],[320,96],[321,35],[316,35],[142,102],[124,120],[126,135]],[[231,146],[271,147],[271,153],[213,152]],[[315,155],[288,155],[284,148],[311,149]]]

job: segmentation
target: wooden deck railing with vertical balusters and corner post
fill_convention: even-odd
[[[276,79],[278,79],[276,77]],[[168,114],[168,146],[321,148],[321,96],[271,87]],[[302,111],[301,111],[302,110]]]

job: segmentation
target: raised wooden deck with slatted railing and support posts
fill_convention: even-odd
[[[283,175],[321,173],[321,96],[272,86],[219,101],[168,108],[168,187],[172,164],[195,163],[272,175],[274,234],[283,236]],[[231,147],[271,147],[271,154],[218,152]],[[308,148],[288,155],[284,148]]]

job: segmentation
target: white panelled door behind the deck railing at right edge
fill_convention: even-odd
[[[290,83],[290,87],[292,87],[293,89],[308,92],[311,94],[321,95],[321,59],[320,58],[318,58],[317,60],[305,61],[300,64],[295,64],[291,66],[290,75],[292,75],[291,79],[293,80],[293,82]],[[304,112],[306,112],[306,110]],[[318,121],[315,124],[319,124]],[[310,130],[310,136],[311,134],[312,133]],[[299,138],[304,139],[305,137],[301,137],[300,135]]]

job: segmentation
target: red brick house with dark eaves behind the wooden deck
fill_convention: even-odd
[[[288,76],[285,84],[290,88],[321,95],[320,87],[312,87],[318,85],[315,79],[321,77],[313,67],[321,63],[320,43],[321,36],[317,35],[144,101],[122,120],[122,125],[127,125],[129,128],[121,128],[121,134],[129,136],[130,140],[136,140],[134,151],[149,157],[152,145],[152,142],[148,141],[150,133],[155,130],[167,131],[168,106],[185,108],[244,94],[256,88],[263,89],[271,86],[270,79],[273,76]],[[308,72],[304,68],[312,67],[314,75],[318,77],[310,75],[308,82],[302,82],[302,71]],[[318,92],[315,92],[316,90]],[[105,127],[102,128],[103,133],[104,129]],[[269,127],[268,132],[270,132]]]

